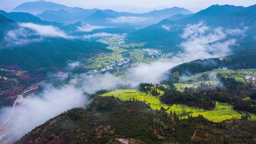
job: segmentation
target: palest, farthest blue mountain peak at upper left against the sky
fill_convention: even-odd
[[[59,10],[59,9],[70,9],[70,8],[54,2],[40,0],[40,1],[33,1],[33,2],[25,2],[15,7],[13,11],[37,14],[45,10]]]

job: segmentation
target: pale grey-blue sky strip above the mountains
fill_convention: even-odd
[[[13,9],[17,5],[35,0],[0,0],[0,8]],[[114,9],[117,11],[144,12],[148,10],[163,9],[173,6],[183,7],[196,12],[213,4],[230,4],[237,6],[250,6],[256,4],[256,0],[47,0],[70,7],[81,7],[85,9]],[[148,9],[151,8],[151,9]]]

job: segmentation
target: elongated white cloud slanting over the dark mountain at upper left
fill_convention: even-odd
[[[20,23],[19,26],[30,28],[36,31],[36,33],[40,36],[72,38],[71,36],[68,36],[64,31],[60,30],[57,27],[53,27],[51,25],[44,26],[44,25],[37,25],[34,23]]]

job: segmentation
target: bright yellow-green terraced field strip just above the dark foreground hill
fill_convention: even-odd
[[[181,104],[174,104],[172,106],[163,104],[159,100],[159,96],[152,96],[150,93],[146,94],[145,92],[140,92],[137,90],[115,90],[109,93],[101,95],[102,97],[113,96],[115,98],[121,99],[123,101],[136,99],[137,101],[145,102],[154,110],[160,110],[161,107],[165,108],[167,113],[171,111],[181,116],[181,118],[186,118],[188,115],[198,116],[199,114],[203,115],[208,120],[213,122],[220,122],[227,119],[237,118],[240,119],[244,114],[243,112],[238,112],[232,110],[232,106],[226,103],[216,102],[216,108],[213,110],[204,110],[201,108],[189,107]],[[250,114],[250,119],[256,119],[256,116]]]

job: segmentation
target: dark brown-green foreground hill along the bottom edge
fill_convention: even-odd
[[[195,97],[195,96],[194,96]],[[194,98],[193,97],[193,98]],[[214,123],[201,115],[174,120],[165,109],[143,102],[94,97],[86,109],[74,108],[24,135],[17,144],[253,144],[256,121]],[[177,108],[178,109],[178,108]],[[179,118],[178,118],[179,119]],[[233,122],[234,123],[234,122]],[[238,130],[239,129],[239,130]],[[243,139],[241,140],[241,137]],[[224,138],[223,138],[224,137]]]

